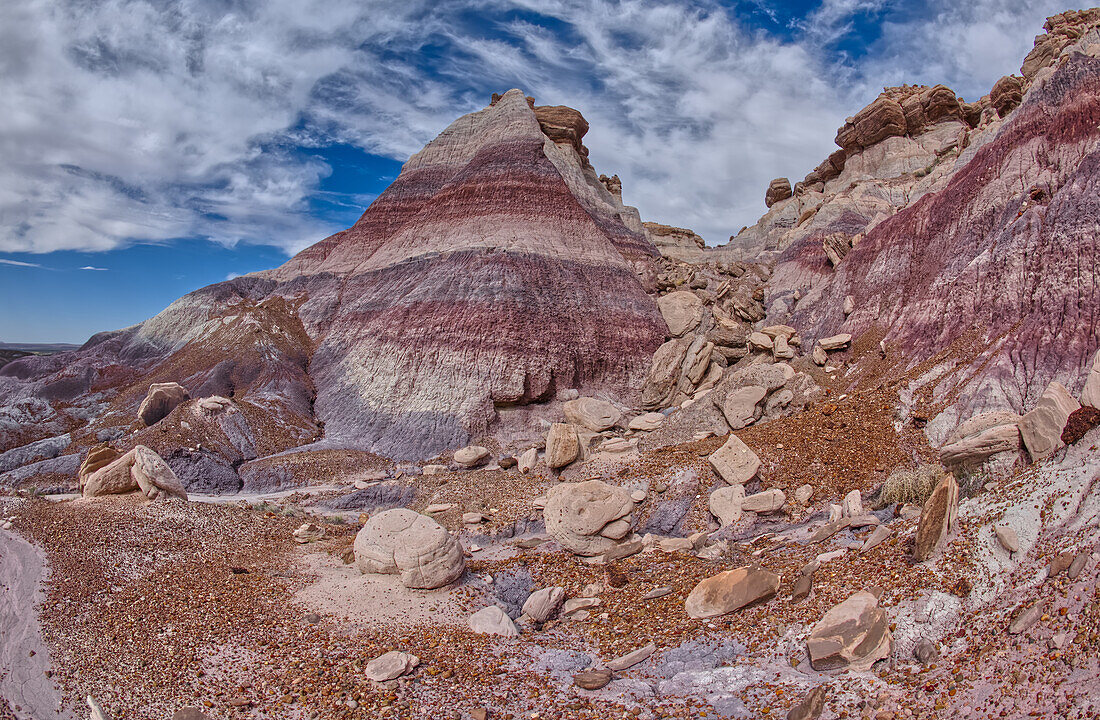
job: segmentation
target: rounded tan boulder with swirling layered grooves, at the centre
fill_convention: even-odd
[[[578,555],[613,550],[630,532],[634,500],[625,488],[602,480],[563,483],[547,492],[547,532]]]

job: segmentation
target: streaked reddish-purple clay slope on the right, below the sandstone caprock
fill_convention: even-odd
[[[1054,379],[1079,390],[1100,346],[1098,58],[1091,30],[1034,74],[1023,103],[942,190],[875,226],[835,270],[821,239],[793,244],[777,266],[780,290],[826,279],[792,323],[811,339],[875,330],[903,363],[952,351],[946,376],[928,378],[934,399],[955,407],[947,420],[1023,411]]]

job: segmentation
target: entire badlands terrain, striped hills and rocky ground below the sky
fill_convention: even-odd
[[[1045,30],[721,247],[510,90],[8,363],[0,718],[1096,717],[1100,9]]]

